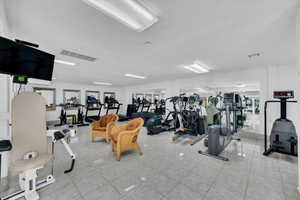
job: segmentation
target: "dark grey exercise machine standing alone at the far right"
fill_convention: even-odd
[[[296,128],[293,122],[286,117],[287,103],[297,103],[297,101],[288,100],[294,98],[294,91],[274,91],[274,99],[265,102],[264,117],[265,117],[265,151],[263,155],[268,156],[272,152],[298,156],[298,141]],[[276,119],[270,135],[270,145],[268,147],[267,139],[267,106],[269,103],[280,103],[280,118]]]

